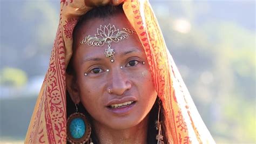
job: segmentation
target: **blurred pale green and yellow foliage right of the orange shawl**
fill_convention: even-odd
[[[231,11],[225,13],[230,16],[233,12],[242,12],[235,9],[241,3],[244,2],[226,3],[222,8],[218,5],[218,10],[234,7],[233,11],[230,8]],[[169,8],[161,9],[168,4]],[[159,11],[164,11],[165,15],[157,16],[166,44],[215,141],[253,143],[256,142],[255,27],[245,28],[243,22],[232,22],[228,18],[206,16],[200,19],[201,13],[210,14],[212,5],[166,2],[159,6]],[[244,11],[244,15],[253,13]],[[255,26],[255,14],[251,18],[247,21]]]

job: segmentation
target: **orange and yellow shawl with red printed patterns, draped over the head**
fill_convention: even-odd
[[[91,10],[92,4],[84,0],[61,0],[60,5],[59,25],[49,69],[38,95],[25,143],[66,143],[65,69],[72,56],[73,29],[79,16]],[[165,133],[169,143],[215,143],[165,45],[149,2],[125,1],[123,9],[149,61],[154,86],[163,102]]]

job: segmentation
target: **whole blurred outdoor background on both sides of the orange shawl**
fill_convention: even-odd
[[[150,1],[217,143],[256,143],[255,1]],[[55,38],[59,1],[0,1],[0,143],[23,142]]]

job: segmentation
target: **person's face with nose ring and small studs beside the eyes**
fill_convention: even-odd
[[[107,44],[79,44],[86,36],[95,36],[100,25],[108,24],[114,25],[119,31],[123,28],[132,29],[124,14],[91,19],[80,27],[74,39],[76,51],[72,63],[77,82],[71,84],[75,91],[70,93],[73,99],[78,98],[75,103],[82,102],[94,122],[112,129],[126,129],[138,125],[146,117],[156,101],[157,93],[144,49],[136,33],[128,39],[111,43],[115,52],[114,63],[104,54]],[[113,107],[118,104],[124,105]]]

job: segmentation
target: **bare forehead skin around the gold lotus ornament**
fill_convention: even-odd
[[[95,55],[101,54],[103,57],[104,51],[107,48],[107,44],[105,43],[103,46],[89,46],[88,44],[80,44],[80,42],[86,37],[91,36],[95,37],[98,34],[98,29],[100,26],[111,25],[118,29],[119,31],[123,31],[123,28],[127,28],[133,30],[132,26],[130,25],[129,21],[127,20],[126,16],[123,13],[117,14],[115,16],[109,18],[93,18],[88,22],[85,22],[82,26],[80,26],[79,30],[77,30],[76,36],[74,39],[76,41],[76,46],[79,54],[83,56],[86,54],[91,55],[92,57]],[[134,30],[133,30],[134,31]],[[107,35],[107,31],[104,31]],[[142,44],[139,41],[137,33],[133,33],[129,35],[129,38],[120,40],[118,43],[111,43],[111,47],[114,49],[116,54],[122,53],[124,51],[143,51]]]

